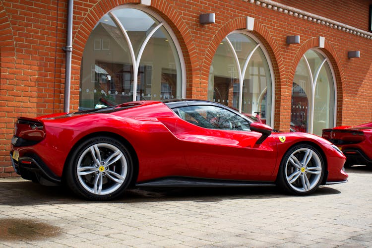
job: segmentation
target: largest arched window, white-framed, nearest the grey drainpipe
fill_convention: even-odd
[[[154,15],[130,6],[99,20],[84,49],[80,109],[184,97],[180,46]]]

